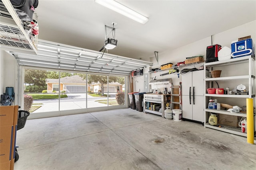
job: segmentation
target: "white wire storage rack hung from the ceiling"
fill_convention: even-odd
[[[32,36],[32,28],[24,27],[10,0],[0,1],[0,46],[13,51],[37,54],[37,36]]]

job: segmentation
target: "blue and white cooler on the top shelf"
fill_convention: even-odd
[[[231,44],[231,57],[254,55],[254,43],[251,38]]]

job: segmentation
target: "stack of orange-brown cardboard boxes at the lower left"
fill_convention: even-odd
[[[18,106],[0,106],[0,170],[14,169]]]

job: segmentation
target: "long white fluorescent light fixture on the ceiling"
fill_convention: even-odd
[[[139,23],[145,24],[148,21],[148,18],[146,18],[145,16],[114,0],[95,0],[95,2]]]

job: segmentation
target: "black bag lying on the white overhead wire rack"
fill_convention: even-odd
[[[38,0],[10,0],[20,20],[32,21],[35,8],[38,6]]]

